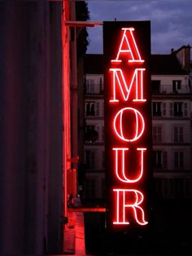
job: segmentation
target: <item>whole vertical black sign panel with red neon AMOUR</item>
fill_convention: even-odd
[[[107,223],[145,227],[151,176],[150,22],[104,22]]]

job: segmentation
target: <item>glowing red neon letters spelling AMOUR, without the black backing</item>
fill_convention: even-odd
[[[133,28],[121,29],[122,36],[120,38],[120,46],[116,54],[116,59],[111,60],[111,99],[109,104],[116,104],[119,108],[116,108],[116,112],[112,113],[113,118],[113,131],[116,139],[123,144],[124,147],[113,147],[110,150],[113,151],[115,159],[115,166],[113,175],[119,184],[118,188],[113,188],[113,198],[115,199],[115,219],[113,219],[114,225],[129,225],[130,221],[134,219],[134,222],[139,225],[146,225],[145,209],[143,207],[144,195],[142,191],[138,189],[119,188],[120,183],[131,184],[133,186],[136,183],[141,182],[144,172],[144,158],[146,148],[135,149],[134,161],[137,163],[133,166],[131,161],[125,161],[129,156],[129,145],[142,139],[143,132],[145,130],[145,121],[141,110],[137,109],[137,104],[146,103],[143,93],[145,90],[145,84],[143,76],[146,68],[141,68],[144,63],[137,47],[137,42],[134,38]],[[123,63],[124,60],[125,65]],[[129,68],[132,65],[135,68]],[[116,66],[115,68],[114,65]],[[131,107],[129,106],[131,102]],[[121,107],[121,103],[126,103],[126,108]],[[125,106],[125,104],[123,104]],[[133,125],[132,132],[126,131],[126,118],[131,119]],[[125,120],[125,121],[124,121]],[[130,129],[129,129],[130,130]],[[133,149],[132,149],[133,150]],[[132,175],[129,175],[129,170],[132,168]],[[134,173],[134,174],[133,174]],[[130,217],[132,216],[132,217]]]

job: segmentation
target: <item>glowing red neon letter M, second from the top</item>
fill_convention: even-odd
[[[143,71],[146,68],[136,68],[133,73],[133,77],[128,86],[127,82],[124,79],[124,73],[120,68],[110,68],[112,73],[112,99],[110,102],[119,102],[119,97],[123,98],[124,101],[129,99],[129,95],[133,89],[134,98],[133,101],[143,102],[146,99],[143,99]],[[118,93],[117,93],[118,87]]]

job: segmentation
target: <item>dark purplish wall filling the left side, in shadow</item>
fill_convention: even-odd
[[[0,3],[0,254],[62,244],[61,2]]]

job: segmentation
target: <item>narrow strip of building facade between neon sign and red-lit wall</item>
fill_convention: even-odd
[[[85,74],[85,198],[88,200],[102,199],[105,192],[103,85],[103,72]]]

